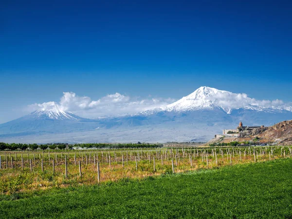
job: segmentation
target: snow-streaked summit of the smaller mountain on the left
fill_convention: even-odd
[[[43,106],[42,109],[34,111],[31,113],[32,115],[36,115],[38,117],[48,117],[50,119],[57,120],[77,120],[78,116],[74,115],[72,112],[66,112],[61,110],[55,102],[48,102]]]

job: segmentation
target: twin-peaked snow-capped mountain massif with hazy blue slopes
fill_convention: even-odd
[[[279,104],[280,103],[280,104]],[[169,142],[207,141],[222,129],[270,126],[292,119],[292,107],[257,101],[246,94],[201,87],[165,107],[84,119],[49,102],[43,109],[0,125],[0,142]]]

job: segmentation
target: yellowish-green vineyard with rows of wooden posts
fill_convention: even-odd
[[[0,152],[0,193],[92,185],[292,157],[291,146]]]

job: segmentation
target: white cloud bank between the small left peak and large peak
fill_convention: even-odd
[[[57,105],[61,110],[71,111],[81,117],[97,118],[151,110],[166,106],[174,101],[171,98],[151,98],[151,96],[139,98],[120,93],[108,94],[98,100],[91,100],[88,96],[78,96],[74,92],[63,92]],[[28,110],[51,109],[54,103],[32,104],[28,106]]]

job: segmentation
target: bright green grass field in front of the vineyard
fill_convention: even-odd
[[[0,199],[0,218],[292,218],[292,159]]]

